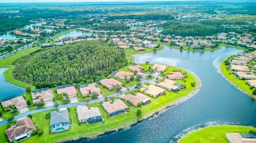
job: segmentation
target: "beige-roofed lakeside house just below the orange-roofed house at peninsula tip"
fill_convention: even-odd
[[[169,91],[176,91],[181,87],[181,84],[170,79],[164,79],[162,82],[156,83],[158,87]]]

